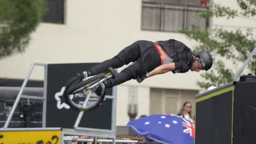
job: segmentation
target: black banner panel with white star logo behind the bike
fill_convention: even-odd
[[[65,87],[66,82],[75,76],[88,70],[96,63],[77,64],[48,64],[47,79],[47,106],[46,127],[73,128],[79,111],[67,108],[65,98],[59,94],[59,103],[62,108],[57,107],[58,101],[55,94]],[[108,89],[107,95],[112,95],[112,89]],[[111,129],[112,103],[110,99],[103,101],[102,105],[95,110],[85,112],[79,127]]]

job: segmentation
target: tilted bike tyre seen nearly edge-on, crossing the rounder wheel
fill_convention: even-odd
[[[101,73],[101,74],[98,74],[94,77],[91,77],[90,79],[88,79],[86,81],[82,81],[82,82],[78,83],[77,85],[74,85],[73,87],[69,88],[67,90],[67,94],[72,94],[74,91],[77,91],[77,89],[79,89],[81,87],[84,87],[88,83],[91,83],[91,82],[93,82],[95,80],[98,80],[98,79],[103,79],[104,77],[105,77],[105,74]]]

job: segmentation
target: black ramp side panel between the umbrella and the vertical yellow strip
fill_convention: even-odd
[[[231,143],[231,123],[232,91],[197,102],[196,144]]]

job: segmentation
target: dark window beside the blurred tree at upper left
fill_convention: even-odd
[[[46,13],[43,22],[64,23],[64,0],[45,0]]]

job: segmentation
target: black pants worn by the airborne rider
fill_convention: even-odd
[[[125,47],[117,56],[95,65],[89,72],[90,75],[96,75],[106,72],[109,67],[119,68],[130,62],[134,63],[122,70],[114,79],[108,79],[109,87],[137,79],[139,75],[152,71],[161,65],[161,57],[152,41],[139,40]]]

